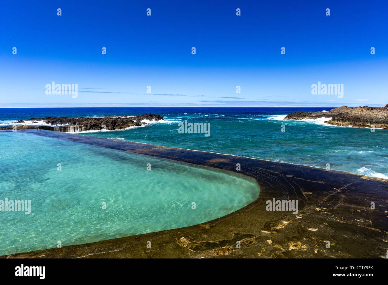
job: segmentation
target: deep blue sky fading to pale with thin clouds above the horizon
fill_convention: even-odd
[[[79,2],[2,3],[0,107],[388,103],[386,1]],[[318,81],[344,96],[312,95]]]

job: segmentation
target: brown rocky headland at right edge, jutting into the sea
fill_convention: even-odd
[[[325,123],[336,126],[353,126],[360,128],[388,129],[388,104],[385,107],[354,107],[342,106],[328,112],[294,112],[288,114],[285,120],[327,118]]]

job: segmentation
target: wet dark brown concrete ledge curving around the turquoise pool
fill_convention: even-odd
[[[23,130],[100,147],[233,171],[254,178],[258,198],[199,225],[2,256],[2,258],[385,257],[388,183],[343,171],[52,131]],[[236,164],[241,164],[241,171]],[[266,211],[298,200],[299,212]],[[371,202],[376,208],[370,209]],[[300,218],[299,218],[300,217]],[[151,249],[147,248],[151,241]],[[331,247],[327,248],[327,241]],[[241,243],[241,248],[236,243]]]

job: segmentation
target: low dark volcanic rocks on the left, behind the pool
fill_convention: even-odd
[[[142,126],[147,124],[142,122],[159,121],[163,120],[163,117],[156,114],[144,114],[141,116],[115,116],[115,117],[45,117],[45,118],[31,118],[26,121],[44,121],[49,128],[56,131],[90,131],[90,130],[122,130],[133,126]],[[24,121],[18,121],[17,123],[24,123]],[[42,126],[41,128],[45,128]],[[50,129],[51,130],[51,129]]]

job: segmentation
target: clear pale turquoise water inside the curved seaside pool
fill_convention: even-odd
[[[0,200],[31,200],[31,213],[0,211],[0,255],[196,225],[258,193],[255,181],[233,173],[1,132]]]

